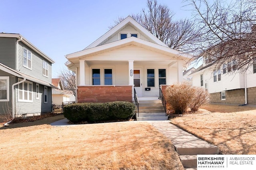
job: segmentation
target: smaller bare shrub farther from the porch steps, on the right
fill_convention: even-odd
[[[188,104],[192,112],[198,111],[198,108],[203,104],[210,102],[209,93],[201,87],[193,87],[194,97],[191,102]]]

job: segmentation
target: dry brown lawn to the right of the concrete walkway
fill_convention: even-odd
[[[172,123],[217,145],[222,154],[256,154],[256,107],[209,104],[200,113]]]

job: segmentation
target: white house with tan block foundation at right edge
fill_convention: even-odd
[[[241,72],[232,63],[215,69],[205,61],[191,74],[192,84],[207,89],[212,103],[256,104],[256,64]]]

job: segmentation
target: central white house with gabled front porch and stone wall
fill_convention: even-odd
[[[88,47],[65,56],[76,72],[78,102],[132,102],[159,97],[159,86],[180,83],[192,56],[170,49],[130,16]]]

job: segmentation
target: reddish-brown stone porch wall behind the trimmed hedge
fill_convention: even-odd
[[[78,86],[78,103],[132,102],[132,86]]]

